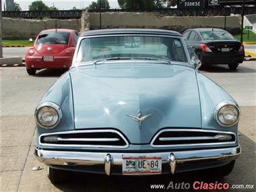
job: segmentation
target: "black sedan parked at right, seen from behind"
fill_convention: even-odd
[[[193,46],[203,65],[228,64],[230,69],[236,69],[239,63],[243,63],[243,44],[225,30],[193,28],[186,30],[183,36]]]

